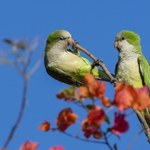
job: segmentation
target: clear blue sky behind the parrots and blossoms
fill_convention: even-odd
[[[150,1],[149,0],[1,0],[0,40],[40,37],[38,51],[43,52],[48,34],[57,29],[66,29],[74,39],[103,59],[111,72],[114,72],[117,51],[113,41],[117,32],[123,29],[137,32],[142,39],[144,55],[150,60]],[[3,47],[0,46],[0,49]],[[20,107],[22,79],[12,68],[0,66],[0,147],[12,127]],[[42,63],[32,76],[28,104],[21,126],[18,128],[8,150],[17,150],[26,140],[39,142],[39,150],[47,150],[53,145],[63,145],[66,150],[107,150],[103,145],[71,139],[59,132],[43,133],[37,128],[44,120],[55,122],[64,107],[71,104],[58,101],[55,97],[62,88],[68,87],[49,77]],[[112,87],[108,96],[112,97]],[[81,115],[81,113],[79,113]],[[130,130],[117,141],[119,150],[125,150],[129,142],[141,129],[134,115],[128,118]],[[78,133],[75,128],[70,132]],[[133,146],[133,150],[149,149],[144,134]]]

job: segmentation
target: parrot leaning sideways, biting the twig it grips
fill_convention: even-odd
[[[82,85],[82,80],[87,73],[91,73],[97,79],[109,80],[107,75],[84,57],[78,50],[70,50],[75,41],[66,30],[57,30],[51,33],[45,47],[45,68],[54,79],[70,85]]]

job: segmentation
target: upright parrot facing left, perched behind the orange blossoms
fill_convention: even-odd
[[[119,52],[115,70],[116,80],[134,88],[147,86],[150,91],[150,66],[142,54],[140,37],[132,31],[123,30],[117,34],[114,46]],[[146,109],[140,113],[150,127],[150,111]]]

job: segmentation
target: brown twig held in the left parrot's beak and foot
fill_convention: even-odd
[[[95,58],[90,52],[88,52],[85,48],[81,47],[79,44],[75,44],[75,47],[82,50],[86,55],[88,55],[91,59],[93,59],[94,61],[97,61],[98,59]],[[110,78],[110,81],[113,82],[115,80],[115,78],[111,75],[111,73],[109,72],[109,70],[107,69],[107,67],[105,66],[105,64],[101,61],[98,62],[100,67],[105,71],[105,73],[107,74],[107,76]]]

